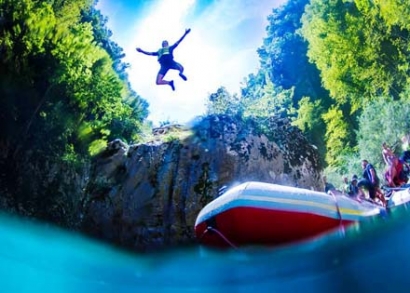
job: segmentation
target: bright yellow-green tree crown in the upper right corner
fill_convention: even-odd
[[[409,11],[402,1],[389,2],[400,13]],[[313,0],[302,18],[308,56],[324,86],[338,103],[350,102],[353,112],[381,94],[398,98],[408,79],[409,32],[386,22],[392,6],[383,4],[382,14],[380,3]]]

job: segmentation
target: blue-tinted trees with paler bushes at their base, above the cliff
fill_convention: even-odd
[[[251,108],[256,108],[260,104],[258,100],[264,97],[262,108],[269,109],[268,107],[274,105],[275,108],[270,108],[270,111],[275,112],[276,115],[278,111],[286,110],[293,117],[299,111],[300,117],[296,118],[295,122],[295,125],[298,126],[302,126],[307,117],[307,112],[304,112],[307,108],[298,110],[301,105],[306,105],[306,100],[302,104],[300,103],[303,97],[307,97],[313,104],[320,104],[321,107],[316,108],[314,113],[311,113],[315,116],[314,121],[319,124],[312,127],[310,127],[311,124],[306,124],[302,130],[311,143],[318,147],[323,158],[326,147],[324,131],[321,131],[324,128],[321,116],[333,101],[321,85],[316,65],[309,62],[307,57],[308,44],[299,33],[302,26],[301,17],[308,2],[308,0],[288,1],[285,5],[274,9],[272,14],[268,16],[267,36],[263,40],[263,45],[258,49],[261,69],[256,76],[248,77],[246,88],[242,90],[242,94],[245,97],[251,94],[253,97],[253,99],[247,98]],[[269,86],[269,83],[272,86]],[[275,88],[275,95],[279,96],[282,95],[283,90],[285,96],[286,92],[291,92],[291,103],[286,101],[286,103],[281,104],[280,101],[284,100],[279,96],[275,97],[275,95],[265,93],[264,91],[269,90],[270,87]],[[267,96],[271,98],[267,99]],[[280,110],[280,108],[282,109]]]

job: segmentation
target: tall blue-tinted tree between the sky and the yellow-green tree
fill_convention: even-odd
[[[277,88],[294,88],[294,105],[303,96],[323,99],[328,104],[328,92],[322,87],[319,71],[307,58],[308,45],[299,34],[301,18],[309,0],[288,1],[268,16],[269,25],[263,45],[258,49],[261,67],[269,73]]]

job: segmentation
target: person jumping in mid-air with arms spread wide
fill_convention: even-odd
[[[145,55],[158,56],[158,62],[161,65],[161,68],[159,69],[159,72],[157,75],[157,81],[156,81],[158,85],[168,84],[172,88],[173,91],[175,90],[173,80],[170,80],[170,81],[164,80],[165,74],[167,74],[168,70],[170,69],[179,70],[179,76],[183,80],[187,80],[186,76],[183,74],[184,67],[180,63],[174,60],[174,55],[172,53],[175,50],[175,48],[179,45],[179,43],[181,43],[181,41],[185,38],[185,36],[190,31],[191,29],[186,29],[183,36],[172,46],[168,45],[168,41],[163,41],[162,48],[159,49],[157,52],[147,52],[147,51],[142,50],[141,48],[137,48],[138,52],[143,53]]]

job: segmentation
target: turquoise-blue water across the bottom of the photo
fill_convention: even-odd
[[[410,292],[410,210],[282,247],[131,254],[0,216],[1,292]]]

